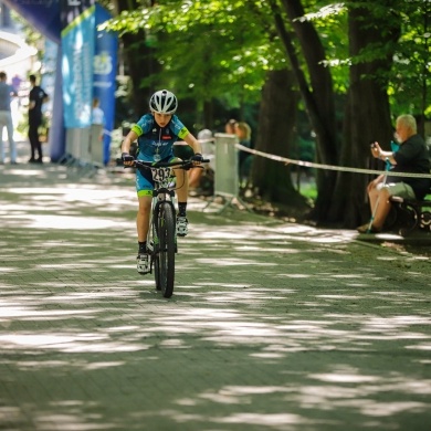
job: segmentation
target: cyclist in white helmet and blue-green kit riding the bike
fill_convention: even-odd
[[[178,101],[174,93],[160,90],[153,94],[149,99],[149,114],[145,114],[124,138],[122,144],[122,158],[125,166],[133,166],[134,157],[129,155],[132,143],[138,140],[137,159],[145,161],[172,161],[174,143],[183,139],[195,151],[192,160],[197,165],[202,160],[202,150],[199,141],[187,129],[181,120],[175,115]],[[175,169],[177,177],[178,217],[177,235],[186,236],[188,233],[187,198],[188,180],[183,169]],[[137,270],[139,274],[149,272],[149,255],[147,251],[147,233],[151,210],[154,181],[151,171],[136,170],[136,190],[138,195],[139,209],[136,217],[138,233],[138,256]]]

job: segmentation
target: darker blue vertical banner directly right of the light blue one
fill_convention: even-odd
[[[111,158],[111,133],[115,119],[115,76],[117,73],[117,33],[98,31],[97,25],[109,20],[111,13],[96,4],[96,46],[94,56],[93,97],[101,101],[101,108],[105,114],[103,135],[103,161],[108,164]]]

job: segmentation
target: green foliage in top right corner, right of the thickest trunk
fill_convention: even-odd
[[[386,59],[395,52],[389,73],[374,76],[390,96],[393,116],[401,113],[431,115],[431,2],[429,0],[391,0],[388,2],[349,1],[349,8],[369,9],[374,19],[364,21],[380,32],[399,28],[393,41],[368,44],[351,63]]]

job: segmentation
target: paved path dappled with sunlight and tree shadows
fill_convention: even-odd
[[[1,430],[431,429],[429,260],[191,199],[165,299],[132,178],[0,179]]]

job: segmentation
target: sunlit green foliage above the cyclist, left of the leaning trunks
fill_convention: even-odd
[[[160,1],[108,25],[120,34],[145,30],[162,73],[143,85],[169,82],[180,97],[203,103],[222,95],[239,106],[259,101],[266,71],[285,65],[269,18],[260,1]]]

